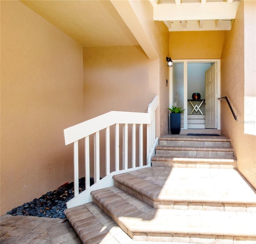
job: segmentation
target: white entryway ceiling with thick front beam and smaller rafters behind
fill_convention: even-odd
[[[150,0],[169,31],[230,30],[240,0]]]

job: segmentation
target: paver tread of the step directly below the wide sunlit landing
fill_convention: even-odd
[[[154,232],[256,237],[253,224],[256,223],[256,216],[252,213],[239,215],[222,211],[153,209],[116,187],[92,191],[91,194],[94,203],[129,235]],[[108,195],[111,197],[108,198]],[[119,204],[116,203],[118,198]]]

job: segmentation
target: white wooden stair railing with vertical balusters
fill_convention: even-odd
[[[150,165],[154,155],[158,138],[155,133],[156,108],[158,107],[158,96],[148,106],[147,113],[138,112],[118,112],[111,111],[92,118],[80,124],[76,124],[64,130],[66,145],[74,143],[74,197],[79,194],[79,172],[78,172],[78,140],[84,139],[84,159],[85,159],[85,189],[90,187],[90,146],[89,136],[94,134],[94,183],[100,181],[100,131],[105,130],[106,135],[106,176],[110,175],[110,126],[115,126],[115,162],[114,170],[120,171],[119,158],[122,154],[122,169],[128,169],[128,124],[132,124],[132,162],[131,167],[136,168],[136,124],[138,124],[138,166],[143,166],[143,124],[147,125],[147,158],[146,164]],[[122,150],[119,148],[119,130],[122,126]],[[74,205],[72,205],[74,206]]]

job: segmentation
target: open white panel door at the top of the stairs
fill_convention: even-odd
[[[205,71],[205,128],[216,129],[216,63]]]

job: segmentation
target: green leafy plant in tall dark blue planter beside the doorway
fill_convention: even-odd
[[[181,114],[184,113],[185,109],[182,107],[172,106],[168,108],[170,110],[170,129],[172,134],[180,134]]]

